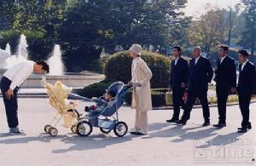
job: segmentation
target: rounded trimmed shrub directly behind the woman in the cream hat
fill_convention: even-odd
[[[143,51],[142,58],[148,64],[153,77],[151,88],[167,88],[169,84],[171,60],[164,55]],[[131,57],[129,52],[113,54],[105,66],[106,77],[128,83],[131,81]]]

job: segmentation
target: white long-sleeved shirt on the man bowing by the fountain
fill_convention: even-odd
[[[4,77],[7,77],[12,83],[9,89],[14,90],[26,80],[29,75],[33,72],[34,62],[27,60],[26,62],[21,62],[15,66],[12,66],[8,71],[3,73]]]

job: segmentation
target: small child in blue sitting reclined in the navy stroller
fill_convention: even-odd
[[[114,89],[107,89],[106,93],[103,94],[103,96],[92,99],[94,102],[96,102],[96,105],[92,106],[85,106],[84,111],[85,112],[102,112],[102,109],[108,106],[108,102],[116,96],[117,92]]]

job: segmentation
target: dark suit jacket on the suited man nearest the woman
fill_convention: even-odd
[[[187,60],[180,57],[177,60],[177,65],[175,66],[175,60],[172,60],[171,65],[171,76],[170,76],[170,86],[172,89],[180,89],[181,83],[188,84],[189,78],[189,64]]]

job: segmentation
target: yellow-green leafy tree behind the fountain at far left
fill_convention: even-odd
[[[56,28],[63,20],[67,7],[67,0],[1,0],[0,14],[9,22],[9,30],[1,31],[5,37],[1,45],[11,43],[15,52],[17,36],[25,34],[30,58],[47,59],[57,41]]]

